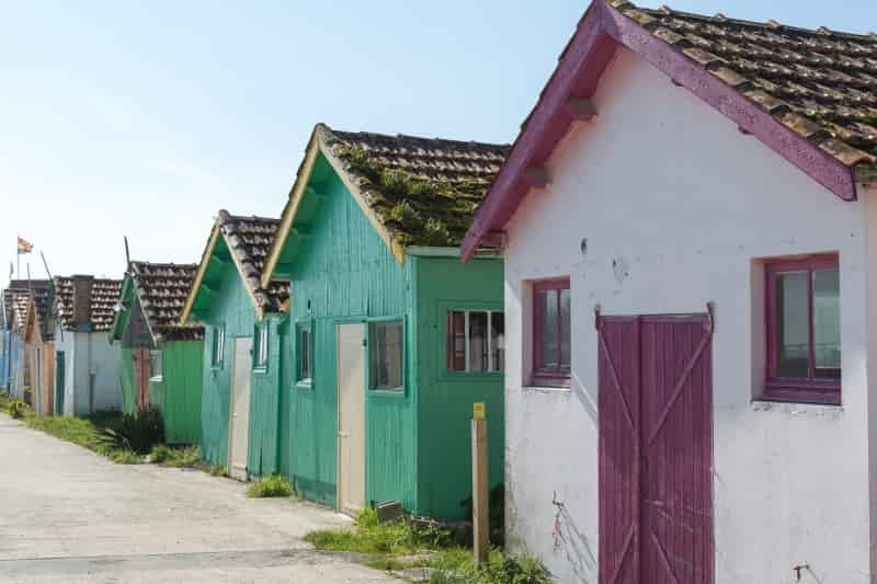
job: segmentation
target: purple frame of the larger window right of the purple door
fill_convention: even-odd
[[[835,379],[818,379],[813,375],[813,277],[815,270],[839,268],[836,253],[808,255],[765,262],[765,329],[767,367],[764,380],[764,398],[776,401],[806,403],[841,404],[841,381]],[[808,328],[809,328],[809,365],[806,379],[779,377],[777,375],[777,306],[776,276],[789,272],[807,272]],[[843,375],[843,374],[841,374]]]

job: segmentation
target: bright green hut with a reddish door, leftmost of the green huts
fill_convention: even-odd
[[[123,410],[156,405],[168,444],[201,440],[204,328],[180,314],[197,265],[130,262],[112,340],[122,344]]]

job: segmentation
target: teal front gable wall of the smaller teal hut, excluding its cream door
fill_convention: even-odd
[[[203,390],[201,403],[201,453],[213,465],[228,466],[228,422],[231,388],[231,357],[236,337],[252,336],[255,309],[228,255],[223,239],[215,255],[225,256],[221,263],[212,263],[208,279],[215,291],[209,302],[200,310],[198,320],[205,323]],[[210,360],[213,337],[217,327],[225,327],[226,346],[224,363],[214,367]]]

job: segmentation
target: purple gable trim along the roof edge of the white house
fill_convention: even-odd
[[[594,94],[618,46],[641,56],[840,198],[856,199],[851,168],[773,118],[760,105],[605,0],[594,0],[476,214],[463,241],[464,261],[475,254],[488,233],[502,229],[511,219],[529,191],[524,180],[526,169],[545,163],[573,121],[567,112],[567,101]]]

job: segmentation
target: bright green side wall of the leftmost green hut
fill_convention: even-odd
[[[204,343],[171,341],[162,345],[163,377],[149,380],[149,401],[161,408],[164,442],[197,444],[201,438]]]

